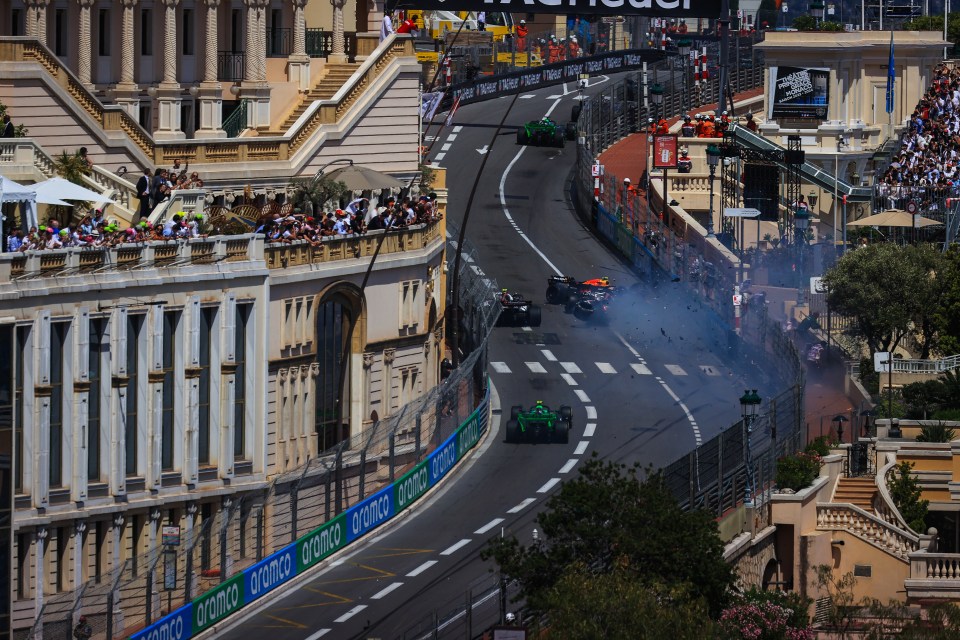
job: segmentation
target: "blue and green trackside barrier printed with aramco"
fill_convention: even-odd
[[[488,387],[483,401],[463,424],[396,482],[138,631],[130,640],[187,640],[387,522],[435,486],[480,441],[487,429],[489,404]]]

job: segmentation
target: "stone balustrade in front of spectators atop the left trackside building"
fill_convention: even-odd
[[[217,262],[265,261],[270,269],[288,269],[340,260],[370,258],[380,238],[380,255],[417,251],[442,241],[444,224],[415,225],[362,236],[265,244],[263,236],[244,234],[176,241],[152,241],[112,247],[70,247],[0,254],[0,283],[19,278],[80,275],[97,271],[184,267]]]

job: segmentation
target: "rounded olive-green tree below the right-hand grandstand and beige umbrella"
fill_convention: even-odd
[[[872,352],[892,351],[913,331],[927,277],[916,254],[892,243],[844,255],[824,276],[830,307],[853,320],[851,335]]]

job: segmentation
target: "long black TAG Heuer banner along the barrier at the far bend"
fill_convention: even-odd
[[[576,82],[582,73],[599,75],[637,69],[642,67],[644,62],[655,62],[663,58],[664,53],[662,51],[631,49],[601,53],[590,58],[556,62],[537,69],[524,69],[523,71],[506,73],[496,78],[478,78],[477,80],[455,84],[452,88],[452,96],[447,96],[445,102],[448,105],[451,99],[459,99],[460,104],[477,102],[560,82]]]

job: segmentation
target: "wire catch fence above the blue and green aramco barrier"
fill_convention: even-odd
[[[448,256],[453,253],[448,251]],[[424,461],[478,407],[485,407],[488,397],[487,338],[500,313],[495,304],[499,287],[471,268],[477,264],[472,247],[464,248],[464,258],[459,280],[465,307],[461,335],[472,351],[458,368],[441,367],[445,377],[440,384],[301,467],[277,475],[261,490],[225,497],[216,513],[191,511],[177,547],[160,544],[160,525],[166,523],[155,510],[150,514],[156,525],[150,551],[118,563],[76,590],[47,596],[33,627],[15,631],[14,638],[70,640],[80,615],[86,617],[95,640],[136,634],[187,603],[196,605],[204,594],[213,595],[235,578],[242,579],[245,569],[330,523]],[[485,427],[486,413],[477,420]],[[197,515],[199,524],[191,527]],[[115,547],[123,524],[123,517],[115,518]],[[165,585],[173,575],[175,583]],[[194,614],[197,609],[194,606]],[[194,634],[206,628],[198,628],[196,620]]]

